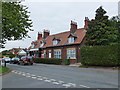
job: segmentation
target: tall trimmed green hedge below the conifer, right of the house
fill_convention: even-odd
[[[120,66],[118,45],[84,46],[81,48],[81,63],[87,66]]]

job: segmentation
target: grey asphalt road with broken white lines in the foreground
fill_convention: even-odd
[[[2,88],[118,88],[118,71],[62,65],[8,64]]]

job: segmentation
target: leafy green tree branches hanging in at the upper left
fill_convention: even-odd
[[[7,40],[21,40],[29,37],[32,21],[27,7],[21,2],[2,2],[2,44]]]

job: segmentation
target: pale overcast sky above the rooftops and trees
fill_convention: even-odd
[[[101,0],[97,2],[95,0],[89,0],[89,2],[87,2],[88,0],[84,2],[77,2],[78,0],[75,0],[76,2],[72,2],[73,0],[64,0],[66,2],[63,2],[63,0],[61,0],[62,2],[47,1],[26,0],[23,2],[28,7],[28,11],[30,11],[34,31],[28,33],[31,38],[7,42],[5,49],[28,48],[31,41],[37,39],[37,33],[42,32],[43,29],[50,30],[50,34],[68,31],[71,20],[76,21],[79,28],[83,27],[84,18],[94,18],[95,10],[100,6],[103,6],[109,17],[118,15],[118,0],[109,0],[109,2],[108,0],[104,2],[101,2]]]

